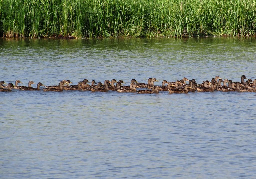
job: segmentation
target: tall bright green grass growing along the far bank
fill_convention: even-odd
[[[251,36],[256,0],[0,0],[3,37]]]

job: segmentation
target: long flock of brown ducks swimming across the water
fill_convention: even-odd
[[[172,93],[188,93],[188,92],[213,92],[215,90],[229,92],[229,91],[237,91],[237,92],[256,92],[256,79],[252,81],[252,79],[247,79],[246,82],[244,80],[247,79],[245,75],[241,77],[241,82],[232,82],[232,80],[222,80],[219,76],[212,78],[211,81],[203,81],[201,84],[197,84],[196,80],[188,80],[187,78],[183,78],[182,80],[177,80],[175,82],[168,82],[164,80],[162,82],[162,86],[154,85],[154,82],[158,82],[156,78],[149,78],[147,84],[138,83],[135,79],[131,80],[129,86],[125,86],[123,80],[116,81],[115,79],[109,81],[105,80],[104,85],[101,82],[96,82],[92,80],[89,82],[87,79],[78,82],[77,85],[70,85],[72,82],[69,80],[62,80],[59,82],[59,85],[56,86],[45,86],[42,83],[37,83],[36,88],[31,87],[32,84],[35,84],[33,81],[28,82],[28,86],[18,86],[19,83],[22,84],[19,80],[15,81],[15,85],[12,83],[8,83],[7,86],[4,81],[0,81],[0,92],[8,92],[12,91],[12,89],[19,90],[28,90],[28,91],[38,91],[40,90],[40,86],[44,86],[44,91],[55,91],[61,92],[63,90],[80,90],[80,91],[92,91],[92,92],[107,92],[107,91],[117,91],[120,93],[132,93],[137,92],[139,94],[153,94],[158,93],[159,91],[168,91],[170,94]],[[186,83],[188,81],[188,83]],[[87,84],[91,83],[91,85]],[[116,83],[116,85],[115,85]],[[223,83],[223,85],[222,85]],[[228,83],[228,85],[227,85]],[[166,85],[167,84],[167,85]],[[148,88],[145,90],[137,90],[137,88]]]

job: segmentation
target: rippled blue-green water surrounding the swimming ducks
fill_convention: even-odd
[[[0,39],[0,80],[255,79],[255,43]],[[0,93],[0,178],[255,178],[255,95]]]

